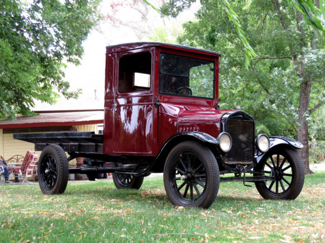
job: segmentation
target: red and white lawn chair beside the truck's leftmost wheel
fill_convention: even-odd
[[[21,166],[12,166],[8,168],[9,173],[18,174],[19,177],[22,177],[22,183],[29,182],[26,180],[26,177],[30,177],[37,172],[38,157],[39,155],[35,154],[34,151],[28,150]]]

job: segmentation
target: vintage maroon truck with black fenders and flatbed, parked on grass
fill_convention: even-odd
[[[14,134],[42,150],[43,193],[63,193],[73,173],[94,180],[112,172],[117,188],[139,189],[145,176],[163,172],[166,193],[179,206],[208,208],[219,182],[228,181],[254,182],[264,198],[295,199],[304,184],[296,151],[302,144],[255,137],[250,115],[220,109],[220,57],[164,43],[108,46],[103,135]],[[69,168],[77,157],[84,158],[83,166]]]

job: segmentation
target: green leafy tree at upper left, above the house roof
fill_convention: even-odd
[[[78,97],[63,80],[64,63],[79,64],[99,2],[0,1],[0,118],[32,114],[34,99]]]

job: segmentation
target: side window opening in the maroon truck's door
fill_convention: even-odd
[[[151,87],[151,53],[122,56],[119,59],[118,92],[146,91]]]

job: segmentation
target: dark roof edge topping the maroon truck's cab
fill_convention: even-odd
[[[135,42],[135,43],[125,43],[125,44],[107,46],[106,54],[124,52],[124,51],[130,51],[130,50],[136,50],[136,49],[148,48],[148,47],[163,47],[163,48],[174,49],[179,51],[187,51],[187,52],[189,51],[193,53],[221,57],[220,53],[214,51],[208,51],[204,49],[187,47],[182,45],[159,43],[159,42]]]

